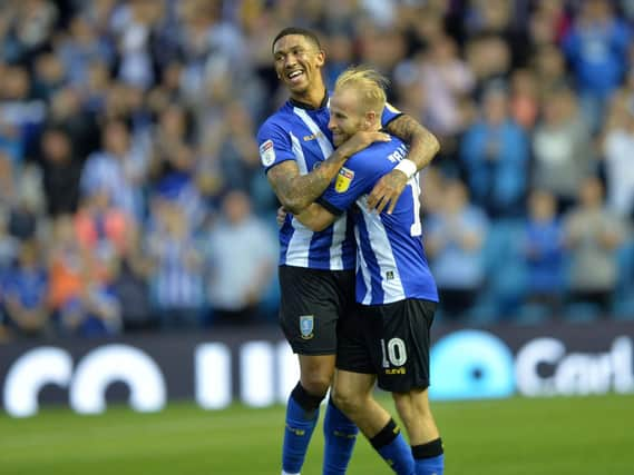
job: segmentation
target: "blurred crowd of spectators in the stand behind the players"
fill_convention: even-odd
[[[634,1],[0,3],[0,340],[276,321],[255,132],[314,29],[440,139],[447,321],[634,317]]]

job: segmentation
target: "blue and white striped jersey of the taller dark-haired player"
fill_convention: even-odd
[[[392,107],[386,107],[382,123],[400,116]],[[301,175],[309,174],[330,157],[334,150],[330,120],[329,97],[319,108],[286,101],[271,116],[257,132],[260,160],[265,171],[286,160],[294,160]],[[280,228],[280,265],[311,269],[354,269],[355,249],[352,225],[343,214],[332,226],[314,232],[286,216]]]

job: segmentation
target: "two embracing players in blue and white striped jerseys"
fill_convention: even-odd
[[[347,70],[329,95],[325,56],[311,31],[286,28],[272,50],[290,99],[257,140],[287,212],[280,228],[280,321],[300,363],[282,475],[300,474],[329,388],[324,475],[345,473],[358,428],[397,474],[441,475],[442,443],[428,400],[438,295],[421,239],[418,182],[438,141],[386,103],[386,79],[371,69]],[[374,399],[375,384],[392,394],[409,444]]]

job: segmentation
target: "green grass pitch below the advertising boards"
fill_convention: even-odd
[[[382,399],[391,405],[389,399]],[[391,406],[390,406],[391,407]],[[435,403],[447,475],[632,475],[634,396]],[[0,416],[2,475],[279,475],[284,409]],[[321,474],[313,436],[303,475]],[[391,471],[360,437],[350,475]]]

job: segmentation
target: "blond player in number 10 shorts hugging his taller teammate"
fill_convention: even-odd
[[[351,68],[339,77],[329,123],[335,146],[358,130],[381,128],[386,85],[371,69]],[[428,399],[430,327],[438,293],[421,238],[418,174],[391,214],[375,212],[368,205],[375,182],[407,156],[407,146],[396,137],[370,145],[350,157],[333,186],[295,218],[319,231],[351,210],[354,222],[360,305],[339,334],[334,404],[397,474],[441,475],[442,443]],[[411,449],[374,399],[375,383],[392,393]]]

